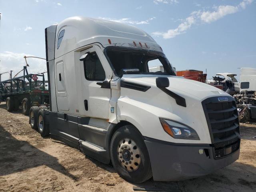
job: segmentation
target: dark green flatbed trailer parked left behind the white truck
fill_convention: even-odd
[[[11,71],[10,79],[0,81],[0,101],[6,101],[9,112],[22,106],[22,113],[27,115],[31,106],[49,106],[49,91],[44,73],[28,74],[26,66],[23,70],[23,76],[12,78]]]

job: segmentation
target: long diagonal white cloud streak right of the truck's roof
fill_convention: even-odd
[[[164,0],[163,0],[164,1]],[[214,22],[228,14],[234,14],[242,9],[245,9],[246,6],[252,3],[253,0],[243,0],[237,6],[231,5],[221,5],[214,7],[214,11],[193,11],[190,16],[188,16],[177,28],[169,29],[167,32],[153,32],[152,35],[162,36],[165,39],[174,38],[179,34],[185,33],[186,30],[191,28],[193,24],[202,22],[202,23],[211,23]]]

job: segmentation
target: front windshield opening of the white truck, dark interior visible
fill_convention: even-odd
[[[175,76],[172,65],[162,52],[111,46],[106,48],[105,54],[118,76],[124,68],[138,68],[140,74]]]

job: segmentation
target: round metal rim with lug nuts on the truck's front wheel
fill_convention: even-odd
[[[117,148],[118,160],[122,168],[132,172],[136,171],[141,162],[140,148],[130,138],[120,140]]]

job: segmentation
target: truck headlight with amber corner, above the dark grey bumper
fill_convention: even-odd
[[[168,119],[159,118],[164,131],[175,139],[200,140],[194,129],[184,124],[174,122]]]

